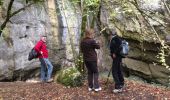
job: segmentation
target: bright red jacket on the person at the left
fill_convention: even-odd
[[[42,40],[37,42],[34,49],[35,49],[35,51],[37,51],[39,53],[38,58],[48,58],[47,46],[46,46],[46,43],[43,42]],[[42,55],[41,55],[40,51],[43,52]]]

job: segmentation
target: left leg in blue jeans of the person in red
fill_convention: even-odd
[[[45,77],[45,73],[46,73],[46,71],[45,71],[45,68],[46,68],[46,66],[45,66],[45,62],[44,62],[44,60],[43,60],[43,58],[40,58],[39,59],[40,60],[40,65],[41,65],[41,68],[40,68],[40,75],[41,75],[41,81],[46,81],[46,77]]]

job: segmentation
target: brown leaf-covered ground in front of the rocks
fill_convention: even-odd
[[[69,88],[58,83],[0,82],[0,100],[170,100],[170,90],[126,80],[123,93],[114,94],[113,83],[101,80],[102,90],[89,92],[87,82]]]

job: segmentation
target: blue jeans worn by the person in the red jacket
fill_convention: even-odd
[[[51,78],[53,65],[48,58],[40,58],[39,60],[41,62],[41,80],[47,81]]]

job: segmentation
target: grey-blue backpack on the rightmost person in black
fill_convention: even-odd
[[[120,55],[126,57],[129,52],[129,43],[126,40],[122,40]]]

